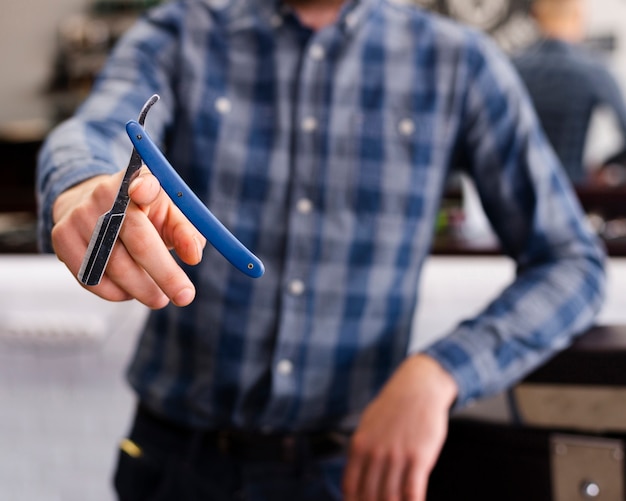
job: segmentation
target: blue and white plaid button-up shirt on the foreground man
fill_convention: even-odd
[[[388,0],[347,4],[319,32],[273,2],[221,3],[175,1],[142,19],[40,157],[50,250],[54,198],[125,166],[124,123],[159,93],[151,135],[265,263],[250,279],[208,246],[187,267],[195,301],[151,313],[129,369],[143,402],[191,425],[352,428],[407,356],[460,159],[518,277],[425,350],[456,379],[457,405],[590,325],[603,252],[489,40]]]

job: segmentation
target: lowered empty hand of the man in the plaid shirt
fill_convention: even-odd
[[[407,358],[366,408],[352,438],[346,501],[425,501],[456,394],[455,381],[432,358]]]

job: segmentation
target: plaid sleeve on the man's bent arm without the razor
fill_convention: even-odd
[[[510,62],[479,39],[461,147],[516,279],[425,352],[455,378],[456,406],[493,394],[565,348],[603,299],[605,254]]]

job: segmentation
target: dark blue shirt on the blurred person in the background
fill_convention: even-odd
[[[587,179],[585,144],[593,114],[614,113],[626,145],[626,102],[608,69],[582,47],[546,38],[514,58],[550,143],[574,183]]]

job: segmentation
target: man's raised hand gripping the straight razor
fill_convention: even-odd
[[[98,217],[111,208],[124,172],[97,176],[65,191],[54,203],[52,245],[76,276]],[[170,253],[197,264],[205,238],[144,167],[129,186],[131,202],[100,284],[89,290],[111,301],[135,298],[150,308],[171,300],[186,306],[195,297],[189,277]]]

